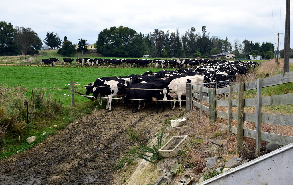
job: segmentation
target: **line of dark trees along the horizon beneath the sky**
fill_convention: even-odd
[[[169,33],[154,29],[147,34],[137,33],[134,29],[120,26],[105,28],[98,34],[95,43],[97,52],[104,57],[212,57],[218,53],[229,52],[237,58],[249,58],[248,55],[262,55],[262,58],[274,57],[274,45],[272,43],[235,39],[232,43],[218,36],[211,36],[206,26],[202,26],[201,32],[194,27],[180,34]],[[87,52],[86,40],[78,40],[78,48],[65,36],[62,39],[54,32],[47,32],[44,43],[51,48],[59,48],[58,54],[64,56],[73,55],[76,52]],[[33,55],[42,47],[42,41],[31,28],[16,26],[5,21],[0,22],[0,55]]]

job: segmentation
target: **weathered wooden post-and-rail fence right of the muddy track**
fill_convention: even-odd
[[[243,136],[256,139],[255,155],[260,156],[260,141],[264,140],[280,145],[287,145],[293,142],[292,136],[272,134],[261,132],[261,123],[293,126],[293,115],[283,114],[262,114],[262,106],[277,106],[293,104],[293,93],[262,97],[262,88],[273,85],[293,82],[293,71],[260,78],[247,83],[239,83],[238,85],[230,85],[220,89],[205,88],[197,85],[191,85],[190,88],[199,91],[192,93],[192,104],[200,108],[200,116],[202,110],[209,113],[210,125],[216,123],[216,118],[225,118],[228,124],[220,124],[222,129],[228,130],[229,134],[237,134],[236,155],[239,155],[241,146],[243,145]],[[244,99],[244,91],[257,89],[256,98]],[[202,96],[202,92],[207,92],[208,97]],[[238,92],[238,99],[232,100],[232,93]],[[216,100],[219,95],[228,95],[228,100]],[[188,96],[188,95],[186,95]],[[193,98],[197,98],[195,101]],[[202,105],[202,101],[209,104],[209,107]],[[228,107],[228,112],[216,111],[216,106]],[[238,107],[238,112],[232,112],[232,107]],[[244,107],[256,107],[256,113],[245,113]],[[237,127],[232,126],[232,120],[237,121]],[[256,130],[244,129],[244,121],[256,123]]]

